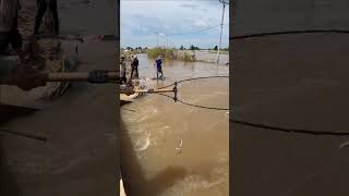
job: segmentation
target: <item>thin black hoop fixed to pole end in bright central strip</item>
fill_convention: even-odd
[[[177,85],[179,83],[184,83],[184,82],[189,82],[189,81],[196,81],[196,79],[205,79],[205,78],[229,78],[229,76],[217,75],[217,76],[193,77],[193,78],[188,78],[188,79],[182,79],[182,81],[174,82],[174,83],[172,83],[170,85],[163,86],[163,87],[160,87],[158,89],[168,88],[168,87]],[[157,94],[157,95],[165,96],[165,97],[168,97],[168,98],[171,98],[171,99],[176,99],[177,102],[180,102],[182,105],[186,105],[186,106],[190,106],[190,107],[202,108],[202,109],[207,109],[207,110],[225,110],[225,111],[229,110],[229,108],[217,108],[217,107],[207,107],[207,106],[201,106],[201,105],[193,105],[193,103],[190,103],[190,102],[185,102],[185,101],[179,100],[179,99],[177,99],[177,97],[171,97],[171,96],[168,96],[168,95],[165,95],[165,94]]]

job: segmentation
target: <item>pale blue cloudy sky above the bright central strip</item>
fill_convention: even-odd
[[[227,0],[226,0],[227,1]],[[121,47],[213,48],[219,44],[222,4],[218,0],[121,0]],[[225,10],[221,47],[229,44],[229,5]],[[209,27],[214,27],[208,30]],[[203,30],[203,32],[200,32]],[[195,34],[188,34],[200,32]],[[186,35],[176,35],[186,34]]]

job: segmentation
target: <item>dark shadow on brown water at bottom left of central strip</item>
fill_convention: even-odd
[[[120,166],[124,188],[128,195],[159,195],[186,175],[182,167],[167,167],[153,179],[145,179],[142,166],[133,149],[131,137],[122,121],[120,133]]]

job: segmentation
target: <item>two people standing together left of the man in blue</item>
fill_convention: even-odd
[[[131,65],[131,75],[130,75],[130,79],[133,78],[133,73],[135,78],[139,78],[139,65],[140,65],[140,61],[137,56],[131,56],[130,58],[130,65]],[[127,78],[127,62],[123,56],[121,56],[120,58],[120,83],[121,84],[127,84],[128,83],[128,78]]]

